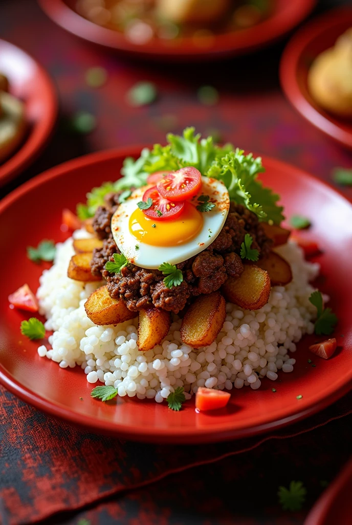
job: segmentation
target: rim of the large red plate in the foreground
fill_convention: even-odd
[[[91,163],[106,161],[106,160],[113,160],[113,159],[120,159],[124,158],[126,156],[138,156],[141,149],[145,146],[133,146],[130,148],[122,148],[122,149],[113,149],[113,150],[107,150],[102,152],[96,152],[91,153],[89,155],[84,155],[78,159],[74,159],[68,162],[65,162],[63,164],[60,164],[58,166],[52,167],[51,169],[47,170],[46,172],[36,176],[35,178],[31,179],[30,181],[26,182],[19,188],[17,188],[15,191],[10,193],[7,197],[3,199],[2,202],[0,202],[0,214],[5,211],[5,209],[10,206],[13,202],[16,201],[16,199],[20,196],[23,196],[27,193],[27,191],[32,190],[36,188],[37,186],[40,186],[42,183],[45,183],[47,181],[50,181],[56,177],[59,177],[62,173],[66,172],[67,170],[75,169],[76,167],[84,167],[86,165],[89,165]],[[287,169],[288,164],[285,162],[282,162],[280,160],[272,159],[269,157],[263,156],[263,162],[267,165],[271,166],[277,166],[278,169],[280,169],[282,172],[284,172],[285,169]],[[336,196],[339,198],[343,198],[344,201],[348,202],[345,197],[337,192],[332,186],[329,184],[321,181],[317,177],[310,175],[303,170],[296,169],[302,173],[305,177],[309,178],[312,182],[319,183],[323,188],[324,192],[334,192]],[[280,419],[272,419],[268,422],[265,422],[263,424],[257,424],[255,426],[253,425],[245,425],[241,427],[237,427],[237,429],[234,430],[228,427],[228,424],[224,425],[218,425],[217,426],[217,435],[214,439],[214,430],[209,429],[200,429],[200,428],[182,428],[181,430],[178,427],[173,428],[146,428],[144,429],[143,435],[136,430],[134,426],[124,426],[124,427],[116,427],[116,424],[114,424],[112,421],[102,421],[100,420],[98,422],[98,425],[94,425],[94,422],[90,416],[86,416],[83,414],[77,414],[71,409],[59,405],[53,402],[49,402],[45,398],[39,396],[38,394],[30,391],[28,388],[21,385],[17,380],[14,380],[12,376],[10,376],[6,370],[3,369],[2,365],[0,364],[0,383],[5,386],[10,392],[20,397],[25,402],[34,405],[36,408],[49,413],[52,416],[57,416],[62,419],[66,419],[70,421],[71,423],[81,425],[85,428],[90,428],[91,430],[108,433],[108,434],[114,434],[114,435],[120,435],[125,436],[127,438],[132,439],[139,439],[149,442],[178,442],[178,443],[189,443],[190,440],[201,440],[202,442],[214,442],[214,441],[220,441],[225,440],[229,438],[239,438],[239,437],[245,437],[253,434],[260,434],[263,432],[266,432],[271,429],[277,429],[279,427],[282,427],[284,425],[299,421],[300,419],[303,419],[307,416],[313,415],[316,412],[320,411],[321,409],[325,408],[326,406],[332,404],[333,402],[337,401],[340,397],[342,397],[344,394],[346,394],[351,389],[351,380],[352,380],[352,369],[348,372],[348,375],[344,377],[344,379],[340,379],[337,382],[337,385],[335,383],[334,390],[328,391],[326,395],[321,398],[318,402],[315,404],[303,406],[301,409],[298,407],[295,411],[291,412],[289,416],[280,418]],[[223,426],[223,428],[222,428]]]

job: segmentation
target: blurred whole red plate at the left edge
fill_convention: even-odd
[[[55,88],[46,71],[13,44],[0,40],[0,71],[9,79],[10,93],[25,103],[29,129],[19,149],[0,164],[0,186],[23,170],[50,137],[57,116]]]

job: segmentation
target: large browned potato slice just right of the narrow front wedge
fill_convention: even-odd
[[[193,348],[212,344],[225,318],[226,303],[220,292],[197,297],[182,319],[182,341]]]

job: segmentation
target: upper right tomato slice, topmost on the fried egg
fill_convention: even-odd
[[[202,175],[193,166],[182,167],[164,176],[158,183],[160,195],[170,201],[185,201],[196,195],[202,186]]]

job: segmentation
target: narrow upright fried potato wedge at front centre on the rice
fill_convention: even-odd
[[[161,308],[140,310],[138,321],[138,350],[146,351],[159,344],[169,332],[171,314]]]

